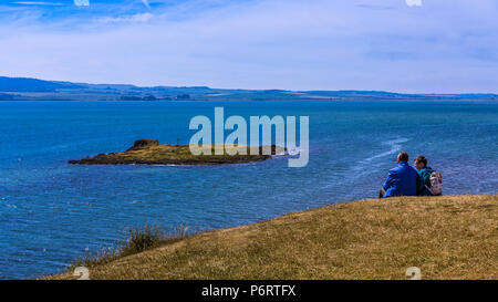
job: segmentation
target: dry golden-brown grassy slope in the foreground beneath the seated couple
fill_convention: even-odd
[[[338,204],[87,264],[91,279],[498,279],[498,196]]]

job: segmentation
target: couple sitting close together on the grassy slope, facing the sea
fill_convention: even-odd
[[[408,165],[408,154],[397,155],[397,167],[390,170],[378,198],[394,196],[434,196],[443,194],[443,176],[427,167],[427,158],[418,156],[414,166]]]

